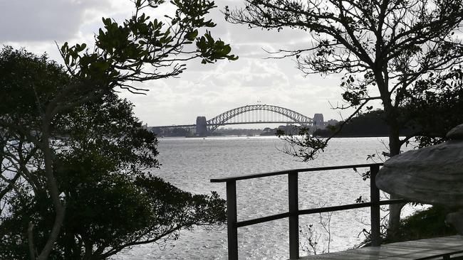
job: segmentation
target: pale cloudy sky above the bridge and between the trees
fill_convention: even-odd
[[[266,53],[307,46],[307,33],[227,23],[221,10],[240,4],[241,0],[217,0],[218,8],[209,15],[217,23],[211,30],[213,36],[229,43],[239,60],[219,60],[212,65],[193,60],[179,78],[143,83],[142,87],[150,89],[146,95],[120,93],[135,104],[135,115],[149,126],[194,124],[197,116],[211,119],[235,107],[271,104],[308,117],[322,113],[326,121],[342,119],[340,110],[332,109],[343,104],[340,75],[304,77],[293,59],[269,59]],[[102,17],[123,21],[133,10],[130,0],[0,0],[0,45],[26,48],[38,55],[46,52],[61,63],[57,45],[90,45],[94,33],[103,27]],[[157,10],[156,15],[165,11]]]

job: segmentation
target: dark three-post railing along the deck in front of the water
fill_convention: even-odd
[[[380,200],[380,190],[376,188],[375,178],[380,166],[383,163],[355,164],[349,166],[329,166],[319,168],[301,168],[293,170],[281,170],[271,173],[258,173],[253,175],[242,175],[238,177],[212,179],[211,183],[227,183],[227,235],[228,235],[228,257],[229,260],[238,259],[238,228],[279,220],[285,217],[289,219],[289,258],[299,259],[299,215],[307,215],[322,212],[334,212],[339,210],[351,210],[360,207],[370,207],[371,218],[371,244],[379,246],[381,244],[380,236],[380,206],[403,203],[405,200]],[[298,173],[307,173],[323,170],[340,170],[347,168],[366,168],[370,167],[370,202],[362,202],[348,205],[339,205],[331,207],[318,207],[307,210],[298,208]],[[288,175],[288,212],[259,217],[253,220],[237,221],[236,217],[236,180],[248,180],[254,178],[263,178],[276,175]]]

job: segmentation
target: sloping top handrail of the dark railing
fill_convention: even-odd
[[[306,173],[306,172],[311,172],[311,171],[364,168],[364,167],[370,167],[370,166],[383,166],[383,163],[364,163],[364,164],[353,164],[349,166],[326,166],[326,167],[315,167],[315,168],[298,168],[298,169],[291,169],[291,170],[277,170],[277,171],[272,171],[269,173],[256,173],[256,174],[250,174],[250,175],[240,175],[236,177],[211,179],[211,183],[227,183],[227,181],[233,181],[233,180],[248,180],[248,179],[270,177],[270,176],[276,176],[276,175],[285,175],[285,174],[288,174],[289,172]]]

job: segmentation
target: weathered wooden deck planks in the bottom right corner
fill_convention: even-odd
[[[366,259],[463,259],[463,237],[439,237],[415,241],[383,244],[381,247],[363,247],[316,256],[303,260],[366,260]]]

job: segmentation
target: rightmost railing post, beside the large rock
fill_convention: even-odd
[[[378,247],[381,244],[380,230],[380,190],[376,187],[376,174],[380,166],[370,166],[370,217],[371,217],[371,245]]]

